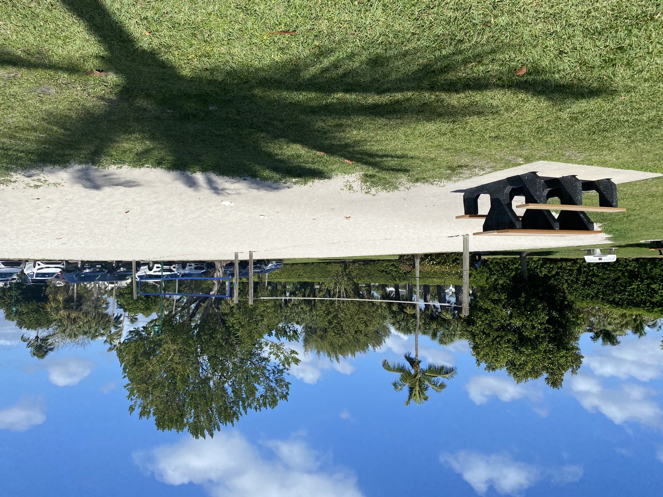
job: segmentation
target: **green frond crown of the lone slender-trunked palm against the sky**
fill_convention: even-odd
[[[456,374],[456,368],[453,366],[428,364],[428,368],[422,368],[421,361],[416,357],[412,357],[410,353],[406,353],[404,357],[409,367],[402,362],[391,364],[387,359],[383,360],[382,366],[389,372],[400,374],[398,380],[392,383],[396,392],[400,392],[406,386],[408,387],[408,398],[404,402],[406,406],[409,406],[412,401],[414,401],[414,404],[426,402],[430,398],[426,394],[429,388],[439,394],[447,386],[439,378],[450,380]]]

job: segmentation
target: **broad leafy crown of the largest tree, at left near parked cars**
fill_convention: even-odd
[[[288,398],[284,376],[298,359],[278,339],[298,337],[278,304],[213,301],[186,300],[164,316],[162,333],[133,329],[115,350],[129,381],[129,412],[153,417],[160,430],[211,437],[249,410]]]

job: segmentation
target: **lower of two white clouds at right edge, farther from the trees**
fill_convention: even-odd
[[[656,391],[650,388],[634,384],[623,384],[616,389],[603,388],[597,378],[579,374],[573,376],[571,390],[585,410],[601,412],[618,425],[626,421],[648,426],[660,424],[662,412],[651,400]]]

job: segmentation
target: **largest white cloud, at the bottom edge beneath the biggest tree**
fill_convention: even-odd
[[[134,462],[170,485],[202,485],[218,497],[359,497],[355,476],[321,469],[324,461],[303,441],[268,441],[269,458],[237,431],[183,439],[133,455]]]

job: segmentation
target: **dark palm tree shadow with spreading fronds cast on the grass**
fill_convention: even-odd
[[[99,97],[101,106],[74,115],[72,111],[46,115],[43,119],[52,130],[46,137],[13,137],[3,143],[3,151],[18,157],[21,166],[103,164],[111,147],[135,140],[150,145],[132,147],[133,165],[170,170],[267,180],[324,179],[330,176],[326,161],[312,165],[315,152],[322,150],[358,162],[369,176],[371,171],[404,175],[408,169],[402,163],[414,157],[371,150],[361,135],[353,138],[348,133],[343,121],[364,117],[385,126],[402,126],[491,113],[489,107],[461,105],[453,95],[421,99],[413,92],[511,88],[565,100],[602,91],[555,78],[471,79],[462,74],[463,68],[497,48],[477,50],[469,44],[450,47],[444,59],[430,58],[418,66],[402,63],[421,60],[408,48],[342,57],[323,50],[306,60],[278,62],[269,68],[217,67],[188,77],[141,48],[99,1],[62,3],[105,46],[104,69],[122,78],[121,88],[113,98]],[[0,63],[79,74],[82,70],[11,54],[0,54]],[[399,70],[394,72],[394,67]],[[339,93],[343,95],[338,97]],[[293,153],[293,145],[300,152]],[[287,154],[286,146],[290,146]]]

